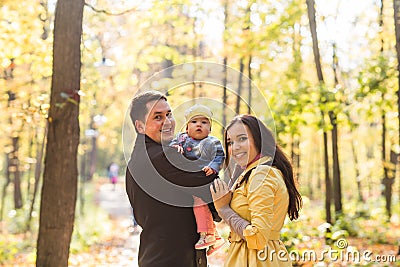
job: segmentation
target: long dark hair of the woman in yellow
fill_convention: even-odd
[[[272,165],[282,172],[289,193],[288,215],[290,220],[296,220],[299,217],[302,199],[294,181],[292,164],[280,146],[276,144],[271,131],[263,122],[252,115],[239,115],[233,118],[226,127],[224,133],[224,146],[226,151],[225,166],[229,166],[230,158],[227,131],[235,123],[243,123],[248,127],[253,136],[255,147],[258,150],[257,152],[261,153],[262,156],[270,156],[273,159]]]

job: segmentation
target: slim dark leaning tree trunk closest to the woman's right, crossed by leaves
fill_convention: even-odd
[[[306,0],[307,3],[307,14],[310,22],[310,31],[313,42],[313,54],[315,67],[317,70],[317,77],[320,85],[324,84],[324,76],[322,74],[321,60],[318,48],[318,37],[317,37],[317,23],[315,21],[315,2],[314,0]],[[321,110],[321,118],[323,122],[323,138],[324,138],[324,167],[325,167],[325,211],[326,211],[326,221],[332,223],[331,216],[331,179],[329,177],[329,157],[328,157],[328,135],[325,127],[325,114]]]

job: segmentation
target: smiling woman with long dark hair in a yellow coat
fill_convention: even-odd
[[[279,235],[286,214],[298,218],[302,200],[288,158],[251,115],[229,123],[224,144],[225,166],[231,158],[243,169],[230,188],[220,179],[210,187],[218,214],[231,228],[225,266],[291,266]]]

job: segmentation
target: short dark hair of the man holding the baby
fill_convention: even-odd
[[[167,101],[167,97],[158,91],[146,91],[136,95],[132,99],[129,112],[133,125],[135,125],[135,121],[137,120],[144,122],[146,114],[149,112],[147,110],[147,103],[161,99]],[[136,126],[135,130],[137,132]]]

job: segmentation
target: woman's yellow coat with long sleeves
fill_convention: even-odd
[[[267,162],[263,157],[244,170]],[[289,195],[282,173],[268,165],[259,165],[247,182],[237,187],[230,207],[250,222],[243,232],[246,240],[231,230],[226,267],[292,266],[288,252],[279,240],[289,205]]]

